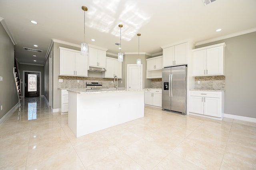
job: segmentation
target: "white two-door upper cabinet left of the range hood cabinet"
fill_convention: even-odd
[[[60,75],[88,76],[88,57],[80,55],[80,51],[59,47]]]

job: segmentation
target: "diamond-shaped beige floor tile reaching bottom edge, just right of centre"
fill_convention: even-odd
[[[122,151],[146,170],[154,168],[169,153],[145,139],[125,147]]]

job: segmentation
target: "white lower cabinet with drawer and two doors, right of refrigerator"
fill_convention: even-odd
[[[190,112],[213,117],[223,117],[224,92],[191,90]]]

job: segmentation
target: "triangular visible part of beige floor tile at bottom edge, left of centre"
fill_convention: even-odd
[[[144,170],[144,168],[119,150],[87,167],[86,170]]]

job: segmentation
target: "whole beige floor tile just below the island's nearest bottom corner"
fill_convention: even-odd
[[[90,166],[119,150],[118,147],[110,143],[110,141],[103,136],[96,140],[91,140],[82,145],[78,145],[74,147],[74,149],[85,167]]]

